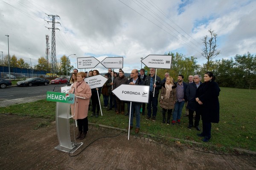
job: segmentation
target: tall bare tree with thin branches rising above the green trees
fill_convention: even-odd
[[[210,33],[210,36],[207,35],[202,39],[203,41],[203,49],[201,55],[204,56],[207,59],[207,71],[209,71],[209,61],[211,61],[212,58],[215,58],[217,55],[219,55],[221,52],[218,51],[217,48],[217,34],[214,32],[214,30],[209,29],[208,32]]]

